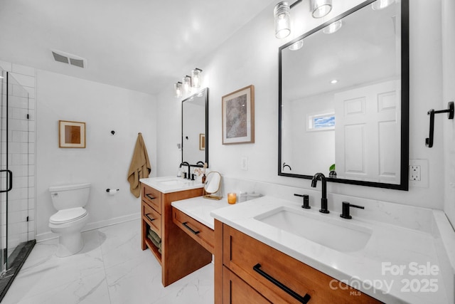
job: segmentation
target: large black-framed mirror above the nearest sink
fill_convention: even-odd
[[[378,4],[279,48],[279,175],[408,189],[409,0]]]

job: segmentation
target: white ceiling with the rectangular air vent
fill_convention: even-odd
[[[272,2],[1,0],[0,60],[156,94],[204,69],[203,58]],[[87,68],[54,61],[51,49]]]

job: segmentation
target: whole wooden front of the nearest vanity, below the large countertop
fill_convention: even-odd
[[[243,298],[248,303],[381,303],[215,220],[215,303],[242,303]]]

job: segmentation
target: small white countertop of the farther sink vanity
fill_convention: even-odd
[[[144,183],[161,193],[198,189],[204,186],[200,181],[192,181],[181,177],[149,177],[146,179],[139,179],[139,182]]]

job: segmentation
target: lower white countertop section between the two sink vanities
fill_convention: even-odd
[[[225,198],[217,201],[215,199],[204,199],[202,196],[173,201],[171,205],[212,230],[215,230],[215,219],[210,215],[210,212],[215,209],[233,206],[228,204],[228,200]]]

